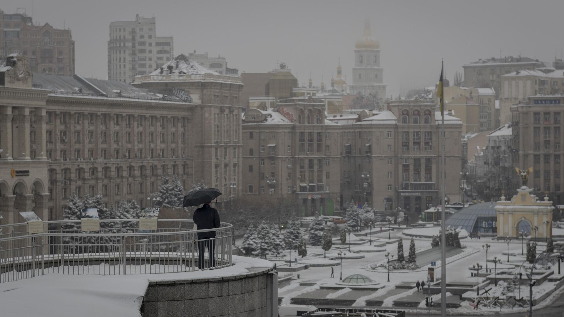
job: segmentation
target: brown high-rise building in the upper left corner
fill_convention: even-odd
[[[21,53],[34,73],[72,76],[74,41],[70,29],[55,29],[49,23],[34,25],[25,13],[0,10],[0,58]]]

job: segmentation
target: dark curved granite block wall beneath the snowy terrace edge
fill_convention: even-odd
[[[145,317],[265,317],[268,272],[223,278],[149,281]]]

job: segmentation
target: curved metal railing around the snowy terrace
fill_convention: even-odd
[[[29,234],[27,223],[0,226],[0,283],[49,273],[158,274],[232,264],[232,225],[192,230],[190,219],[158,219],[139,230],[139,219],[100,219],[100,231],[80,231],[80,220],[46,221]],[[215,237],[197,234],[215,231]]]

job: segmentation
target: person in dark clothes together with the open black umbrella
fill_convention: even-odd
[[[192,217],[197,230],[213,229],[221,226],[219,212],[210,205],[211,200],[217,199],[219,195],[222,195],[222,193],[215,188],[202,188],[184,196],[184,207],[204,204],[196,209]],[[198,232],[198,268],[204,268],[205,266],[204,254],[206,248],[209,253],[209,267],[211,268],[215,266],[215,231]]]

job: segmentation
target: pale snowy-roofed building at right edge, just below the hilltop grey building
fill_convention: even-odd
[[[564,93],[564,72],[542,68],[535,71],[516,71],[501,76],[500,122],[511,122],[511,107],[528,96],[559,95]]]

